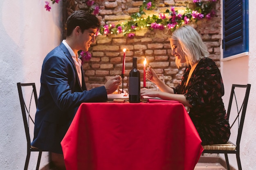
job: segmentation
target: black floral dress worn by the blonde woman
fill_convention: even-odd
[[[189,116],[202,139],[202,145],[225,144],[230,136],[226,110],[222,102],[224,86],[220,70],[210,58],[203,58],[195,67],[189,83],[186,80],[191,66],[187,66],[174,93],[189,100]]]

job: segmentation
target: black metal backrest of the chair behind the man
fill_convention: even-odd
[[[35,107],[34,109],[36,109],[38,104],[36,85],[35,83],[17,83],[17,87],[18,87],[18,93],[20,98],[20,107],[22,111],[23,123],[25,127],[26,138],[27,138],[27,147],[30,148],[31,139],[29,135],[29,122],[32,122],[33,126],[35,124],[34,118],[31,116],[30,111],[31,111],[31,107]],[[25,87],[26,89],[23,89]],[[26,93],[23,93],[22,89],[23,91],[26,90]],[[25,96],[29,96],[29,99],[25,99]]]

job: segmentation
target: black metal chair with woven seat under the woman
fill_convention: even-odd
[[[238,100],[237,100],[238,97],[236,97],[235,88],[236,88],[236,90],[239,90],[240,88],[244,88],[244,91],[245,91],[245,96],[244,96],[244,98],[242,98],[243,103],[241,104],[240,107],[238,106]],[[237,124],[238,131],[235,134],[236,141],[234,143],[232,143],[230,141],[231,140],[231,138],[230,138],[229,141],[227,142],[227,144],[203,146],[203,148],[204,148],[203,153],[224,153],[227,170],[230,170],[229,159],[228,159],[227,154],[236,154],[238,170],[242,170],[241,161],[240,161],[240,141],[241,141],[241,135],[242,135],[242,131],[243,131],[243,125],[244,125],[244,120],[245,120],[245,113],[246,113],[250,88],[251,88],[251,84],[247,84],[247,85],[232,84],[231,94],[230,94],[230,98],[229,98],[229,105],[227,108],[227,117],[229,119],[230,128],[232,128],[236,122],[238,123]],[[238,92],[238,91],[236,91],[236,92]],[[241,93],[241,91],[239,91],[239,92]],[[241,97],[239,97],[239,98],[241,99]],[[233,107],[231,107],[233,101],[236,102],[235,106],[236,106],[236,110],[237,110],[237,115],[235,115],[234,120],[232,117],[232,121],[231,121],[230,112],[231,111],[234,112],[233,110],[231,110],[231,108],[233,108]],[[231,133],[231,135],[233,135],[233,134]]]

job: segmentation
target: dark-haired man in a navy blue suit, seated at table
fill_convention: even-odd
[[[67,38],[43,61],[41,87],[31,146],[63,158],[61,140],[82,102],[103,102],[121,84],[119,75],[87,91],[78,51],[95,42],[100,22],[95,15],[74,11],[67,19]],[[65,166],[64,168],[65,169]]]

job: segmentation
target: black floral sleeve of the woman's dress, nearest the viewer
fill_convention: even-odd
[[[214,104],[224,95],[222,77],[214,62],[196,68],[191,78],[184,95],[192,107]]]

